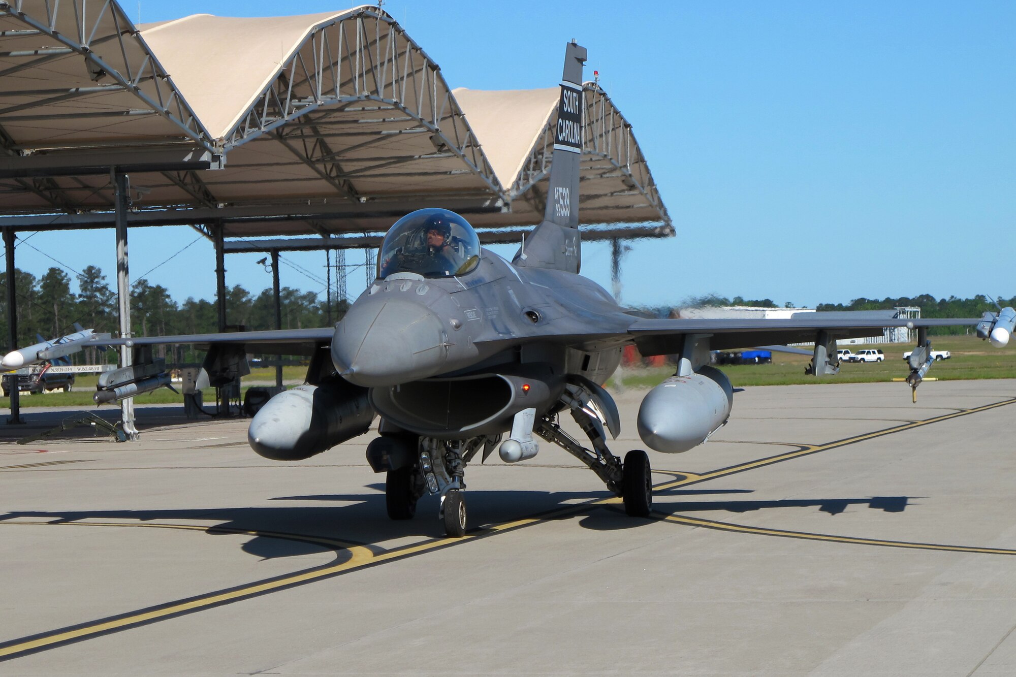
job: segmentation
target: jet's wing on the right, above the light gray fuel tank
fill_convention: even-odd
[[[642,355],[671,355],[681,351],[688,334],[708,334],[711,350],[814,343],[820,331],[830,338],[878,335],[885,327],[973,326],[980,318],[895,317],[893,310],[795,313],[781,319],[678,318],[638,319],[628,327]]]

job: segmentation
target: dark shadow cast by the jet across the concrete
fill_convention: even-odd
[[[81,510],[63,512],[9,511],[0,514],[0,521],[7,519],[42,519],[52,524],[89,519],[122,519],[143,522],[187,524],[206,526],[206,534],[230,535],[236,531],[273,533],[278,536],[253,535],[243,544],[242,550],[261,559],[297,557],[330,552],[337,547],[315,543],[313,539],[334,539],[346,543],[381,543],[393,539],[423,537],[443,538],[441,525],[428,517],[437,514],[436,497],[425,496],[420,500],[417,517],[393,521],[385,511],[384,493],[380,485],[369,485],[367,491],[356,494],[326,494],[308,496],[279,496],[271,500],[342,502],[344,505],[194,508],[167,510]],[[851,505],[868,506],[886,512],[902,512],[910,497],[874,496],[868,498],[822,498],[763,501],[680,501],[666,500],[674,496],[751,493],[751,490],[673,490],[659,492],[653,510],[663,514],[688,512],[749,512],[771,508],[817,507],[830,515],[839,514]],[[582,502],[608,498],[605,491],[541,492],[541,491],[475,491],[469,495],[470,525],[510,522],[515,519],[538,517],[569,506],[572,514],[585,512],[579,520],[584,529],[614,531],[637,529],[645,526],[644,519],[633,519],[624,514],[620,505],[596,504],[583,507]],[[214,521],[214,525],[207,522]],[[307,540],[302,540],[307,539]]]

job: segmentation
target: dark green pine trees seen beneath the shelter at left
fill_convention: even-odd
[[[37,334],[50,340],[74,331],[77,322],[97,332],[116,333],[119,328],[117,294],[111,288],[102,268],[89,265],[71,280],[64,270],[52,267],[41,278],[15,269],[17,294],[17,342],[8,344],[10,309],[7,307],[7,273],[0,272],[0,346],[5,352],[37,343]],[[76,287],[76,291],[72,289]],[[155,336],[180,333],[207,333],[218,330],[217,294],[210,301],[189,297],[178,303],[162,285],[138,280],[131,286],[131,326],[135,336]],[[325,326],[328,322],[327,300],[313,292],[291,287],[279,290],[281,326],[283,329]],[[345,312],[346,302],[332,304],[332,321]],[[226,291],[227,323],[246,330],[274,329],[275,306],[271,289],[253,296],[240,285]],[[161,346],[153,349],[156,357],[171,362],[199,362],[200,352],[188,346]],[[104,355],[98,349],[86,349],[83,359],[76,362],[115,363],[113,351]]]

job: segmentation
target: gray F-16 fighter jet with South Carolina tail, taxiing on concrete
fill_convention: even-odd
[[[391,227],[376,281],[334,327],[103,343],[205,345],[211,385],[247,373],[248,352],[310,355],[306,383],[272,397],[251,421],[254,450],[278,460],[307,458],[367,432],[380,417],[367,459],[387,474],[389,516],[411,518],[418,499],[439,495],[448,535],[462,536],[467,465],[494,450],[506,463],[531,458],[536,438],[588,466],[623,498],[629,514],[649,513],[646,452],[630,450],[622,459],[608,446],[620,422],[602,384],[625,346],[634,344],[646,356],[679,356],[675,375],[649,391],[638,415],[645,444],[673,453],[701,444],[731,414],[734,391],[709,366],[711,350],[814,343],[810,369],[820,376],[838,369],[837,338],[908,326],[919,336],[909,358],[908,382],[916,388],[933,361],[928,327],[977,325],[997,347],[1008,342],[1012,308],[979,319],[860,312],[718,320],[651,319],[618,305],[579,274],[585,59],[585,49],[567,46],[547,210],[511,261],[482,248],[459,214],[421,209]],[[158,387],[150,371],[125,378]],[[107,387],[127,382],[112,379]],[[562,429],[562,414],[578,423],[588,446]]]

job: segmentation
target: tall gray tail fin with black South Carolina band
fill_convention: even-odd
[[[547,209],[512,263],[536,268],[578,272],[581,250],[578,234],[578,177],[582,163],[582,64],[586,51],[575,43],[565,50],[558,124],[551,156]]]

